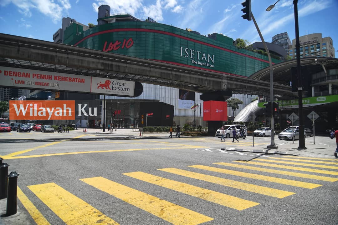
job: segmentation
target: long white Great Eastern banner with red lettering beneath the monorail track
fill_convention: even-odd
[[[0,66],[0,86],[134,96],[135,82]],[[141,92],[142,93],[142,92]]]

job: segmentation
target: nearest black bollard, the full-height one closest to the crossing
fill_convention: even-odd
[[[18,188],[18,176],[15,171],[10,172],[8,177],[8,194],[7,194],[7,208],[6,215],[14,215],[17,213],[17,188]]]

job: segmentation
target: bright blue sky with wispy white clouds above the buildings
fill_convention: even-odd
[[[0,0],[0,33],[53,41],[63,17],[82,24],[97,24],[98,6],[111,6],[111,15],[129,13],[139,19],[148,16],[159,23],[201,34],[222,33],[233,39],[260,41],[252,21],[243,20],[244,0]],[[288,32],[295,38],[293,0],[252,0],[251,7],[266,42],[275,34]],[[338,58],[337,0],[299,0],[299,35],[322,33],[330,36]]]

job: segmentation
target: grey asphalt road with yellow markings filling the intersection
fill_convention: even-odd
[[[1,143],[1,156],[20,174],[31,224],[338,224],[337,161],[224,151],[252,139],[219,140]]]

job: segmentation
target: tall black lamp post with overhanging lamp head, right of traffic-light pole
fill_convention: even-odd
[[[278,0],[277,2],[279,2]],[[276,2],[276,3],[277,3]],[[270,11],[274,5],[270,5],[266,11]],[[300,70],[300,43],[299,43],[299,27],[298,27],[298,0],[293,0],[293,8],[294,8],[294,17],[295,17],[295,32],[296,32],[296,67],[297,67],[297,80],[298,80],[298,114],[299,114],[299,141],[298,141],[298,149],[306,149],[305,147],[305,137],[304,135],[304,125],[303,125],[303,87],[301,83],[301,70]]]

